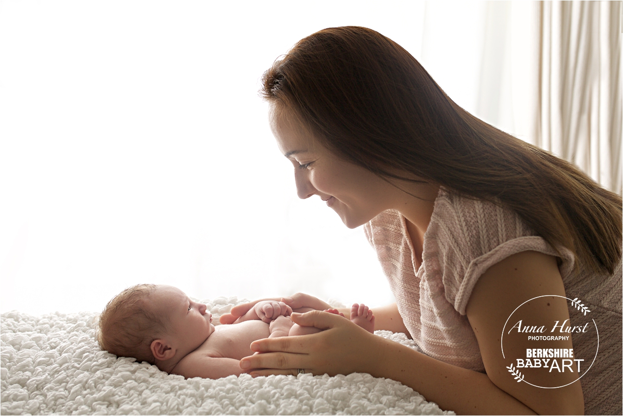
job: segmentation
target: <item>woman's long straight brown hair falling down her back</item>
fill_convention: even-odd
[[[263,82],[265,99],[343,160],[384,178],[416,175],[504,205],[554,249],[570,249],[576,267],[612,274],[621,260],[621,196],[469,114],[409,52],[376,31],[316,32],[276,60]]]

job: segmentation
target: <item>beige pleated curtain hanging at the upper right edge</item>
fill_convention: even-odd
[[[536,144],[621,193],[621,2],[542,2]]]

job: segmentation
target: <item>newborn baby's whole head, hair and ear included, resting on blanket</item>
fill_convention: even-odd
[[[211,322],[206,305],[178,288],[137,284],[108,302],[100,314],[98,342],[118,357],[139,362],[179,361],[212,334]]]

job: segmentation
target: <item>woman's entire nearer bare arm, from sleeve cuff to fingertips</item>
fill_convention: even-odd
[[[556,259],[535,252],[510,256],[481,276],[470,297],[467,316],[490,376],[425,356],[319,311],[293,314],[292,320],[326,331],[255,341],[251,349],[264,354],[245,357],[240,365],[242,369],[260,369],[252,375],[294,374],[299,368],[329,375],[367,372],[402,382],[457,414],[581,414],[583,397],[578,382],[560,389],[517,383],[506,372],[508,364],[499,365],[495,358],[502,355],[500,334],[513,309],[532,297],[558,294],[553,291],[561,288],[564,296]],[[561,319],[561,311],[542,312],[544,319]]]

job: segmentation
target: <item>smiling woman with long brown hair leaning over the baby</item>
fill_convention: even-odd
[[[292,319],[326,331],[256,341],[264,354],[241,367],[368,372],[458,414],[621,414],[620,196],[468,114],[407,51],[364,27],[302,39],[264,74],[262,92],[298,196],[364,225],[376,248],[397,300],[374,310],[376,329],[410,334],[426,354],[314,311]],[[537,297],[525,322],[563,322],[565,296],[582,299],[600,329],[591,370],[580,382],[578,372],[530,373],[556,389],[517,382],[508,357],[535,344],[504,345],[505,359],[506,319]],[[305,296],[290,304],[326,307]],[[595,347],[583,333],[567,338],[549,346],[576,356]]]

